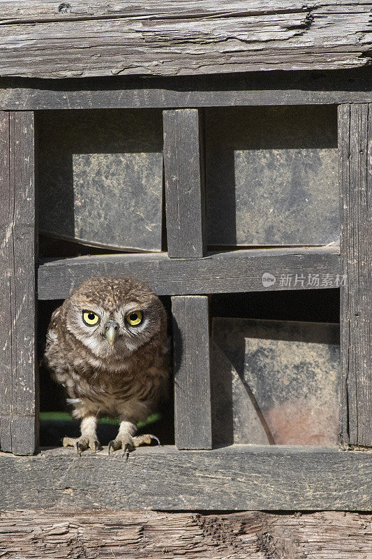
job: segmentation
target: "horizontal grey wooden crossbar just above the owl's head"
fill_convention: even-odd
[[[338,286],[339,260],[336,245],[216,252],[201,259],[170,259],[165,253],[79,256],[47,261],[38,268],[38,298],[65,298],[84,279],[103,275],[137,277],[158,295],[325,289]],[[264,287],[264,273],[274,275],[276,282]],[[309,284],[309,275],[318,275],[318,283]],[[282,276],[289,277],[290,284],[281,282]]]

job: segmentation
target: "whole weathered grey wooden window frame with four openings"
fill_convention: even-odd
[[[371,509],[372,80],[363,71],[318,72],[316,84],[311,72],[270,74],[210,76],[207,87],[205,78],[195,77],[117,78],[114,85],[110,79],[85,78],[0,81],[1,191],[6,201],[1,208],[0,342],[5,349],[0,472],[12,480],[9,487],[17,483],[27,488],[22,494],[5,491],[4,507],[74,504],[78,498],[83,507]],[[338,105],[341,249],[207,252],[203,108],[299,104]],[[34,111],[155,107],[163,109],[168,254],[38,262]],[[181,234],[184,231],[186,235]],[[346,275],[341,286],[339,449],[255,445],[212,449],[208,296],[262,291],[262,273],[268,269],[275,275],[304,271]],[[175,438],[177,447],[186,450],[137,449],[128,463],[103,453],[78,458],[70,449],[38,452],[37,299],[65,298],[91,275],[128,275],[128,270],[159,295],[172,298],[174,331],[177,325]],[[267,289],[314,287],[274,284]],[[202,314],[197,330],[190,310]],[[23,456],[35,452],[36,456]]]

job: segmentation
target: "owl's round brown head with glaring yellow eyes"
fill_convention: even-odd
[[[63,306],[68,331],[100,358],[126,358],[151,340],[165,337],[163,304],[137,279],[87,279]]]

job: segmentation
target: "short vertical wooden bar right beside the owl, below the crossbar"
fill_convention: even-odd
[[[211,449],[208,298],[172,297],[172,317],[176,446]]]

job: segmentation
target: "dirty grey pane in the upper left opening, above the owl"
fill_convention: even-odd
[[[161,111],[45,111],[37,129],[41,232],[161,251]]]

